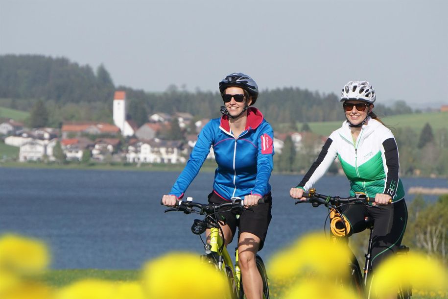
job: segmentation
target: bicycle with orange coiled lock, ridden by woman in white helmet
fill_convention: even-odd
[[[327,219],[325,220],[324,224],[324,230],[327,225],[327,220],[330,218],[330,228],[332,232],[332,236],[334,238],[334,241],[338,237],[346,236],[350,229],[350,224],[345,219],[345,216],[342,215],[341,207],[347,204],[365,204],[368,205],[369,202],[371,202],[374,199],[366,197],[362,193],[358,193],[355,195],[355,197],[349,197],[349,198],[341,198],[339,196],[331,197],[327,195],[322,195],[316,193],[316,189],[311,188],[309,189],[308,193],[304,193],[303,197],[307,198],[307,200],[297,200],[295,204],[298,203],[304,203],[308,202],[311,203],[313,207],[318,207],[320,205],[324,205],[327,208],[330,209],[330,212],[327,216]],[[391,203],[391,200],[389,201]],[[373,239],[373,228],[374,228],[374,221],[373,219],[370,219],[369,217],[365,218],[365,222],[367,224],[367,227],[370,229],[370,236],[369,236],[369,242],[367,246],[367,253],[365,253],[365,264],[363,268],[363,273],[361,272],[361,268],[359,267],[358,260],[356,259],[356,256],[351,251],[351,261],[349,262],[350,267],[350,281],[352,286],[354,287],[354,290],[356,291],[357,295],[361,298],[370,298],[370,281],[369,281],[369,274],[372,271],[372,265],[371,265],[371,253],[372,253],[372,239]],[[405,254],[409,251],[409,247],[406,247],[404,245],[401,245],[399,247],[399,250],[397,253],[399,254]],[[410,299],[412,296],[412,288],[411,287],[399,287],[397,298],[398,299]]]

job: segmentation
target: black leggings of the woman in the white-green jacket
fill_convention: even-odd
[[[352,226],[350,235],[367,228],[364,217],[370,217],[375,221],[371,255],[372,269],[386,256],[397,252],[407,223],[407,207],[404,199],[380,206],[350,204],[342,207],[342,211]]]

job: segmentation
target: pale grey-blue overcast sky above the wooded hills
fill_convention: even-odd
[[[448,1],[0,0],[0,54],[102,63],[145,91],[243,72],[261,90],[360,79],[379,102],[448,103]]]

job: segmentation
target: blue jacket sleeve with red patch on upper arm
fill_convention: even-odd
[[[268,190],[269,177],[274,168],[274,131],[265,123],[260,127],[257,155],[257,176],[251,194],[264,196]]]

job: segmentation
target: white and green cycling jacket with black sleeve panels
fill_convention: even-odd
[[[363,192],[374,198],[377,193],[388,194],[392,201],[404,198],[399,176],[399,155],[392,132],[380,122],[368,117],[354,142],[349,124],[333,131],[318,158],[297,186],[308,191],[338,157],[350,180],[350,196]]]

